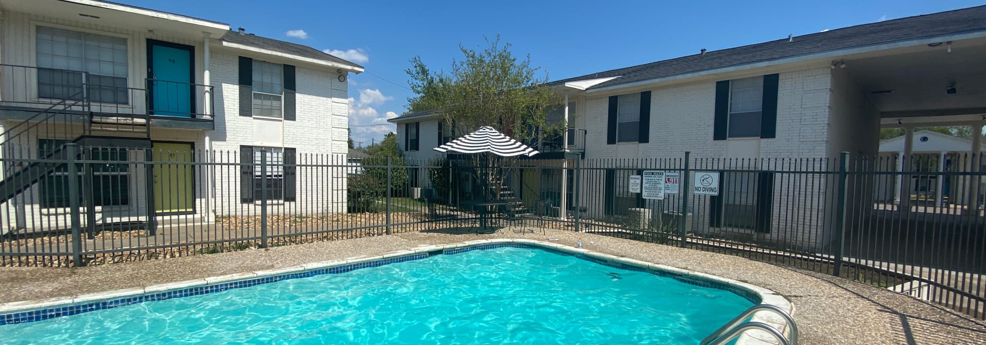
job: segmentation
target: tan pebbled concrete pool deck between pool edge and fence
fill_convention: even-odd
[[[986,323],[885,289],[736,256],[591,234],[492,235],[432,231],[317,242],[83,268],[2,267],[0,303],[40,300],[177,282],[471,240],[522,238],[583,246],[613,255],[735,279],[795,305],[803,344],[982,344]]]

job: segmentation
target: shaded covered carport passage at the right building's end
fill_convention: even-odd
[[[880,128],[904,129],[903,160],[896,160],[896,172],[916,172],[915,128],[930,126],[967,126],[970,141],[962,165],[966,172],[981,172],[982,131],[986,124],[986,38],[974,35],[950,35],[926,44],[878,50],[846,56],[832,63],[833,76],[844,74],[872,104],[880,116]],[[836,77],[833,77],[833,79]],[[835,90],[833,93],[842,92]],[[835,107],[838,110],[838,107]],[[874,139],[879,133],[873,133]],[[864,140],[861,146],[879,145]],[[873,152],[875,148],[860,147]],[[952,188],[953,205],[962,212],[976,211],[981,201],[980,178],[965,175]],[[911,178],[901,178],[898,187],[911,190]],[[938,200],[941,206],[941,199]],[[900,197],[901,210],[911,211],[910,197]]]

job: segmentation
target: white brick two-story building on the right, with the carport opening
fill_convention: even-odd
[[[976,7],[702,49],[549,85],[575,103],[578,117],[569,126],[586,130],[586,163],[615,159],[624,161],[606,164],[635,168],[643,160],[683,158],[685,152],[696,159],[746,160],[733,168],[751,173],[723,177],[744,182],[725,182],[718,197],[692,197],[691,231],[759,241],[797,238],[801,243],[792,245],[821,249],[832,240],[833,208],[823,205],[835,197],[834,178],[757,172],[767,170],[764,160],[833,159],[841,152],[876,157],[880,127],[971,125],[981,133],[986,68],[971,61],[986,53],[982,28],[986,7]],[[391,120],[398,123],[398,139],[405,135],[401,123],[430,126],[412,115]],[[435,141],[425,136],[427,129],[419,133],[422,142]],[[627,205],[618,200],[631,173],[606,172],[582,183],[580,204],[590,207],[589,217],[643,206],[630,205],[632,195]],[[858,207],[869,207],[870,188],[849,191]],[[660,207],[656,211],[679,211],[676,205]]]

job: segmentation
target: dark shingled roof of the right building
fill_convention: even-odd
[[[664,78],[679,74],[738,66],[785,57],[806,55],[829,50],[888,43],[936,35],[960,34],[986,30],[986,6],[907,17],[879,23],[830,30],[824,33],[787,37],[735,48],[707,51],[669,60],[593,73],[549,83],[559,85],[588,79],[619,77],[589,88]]]

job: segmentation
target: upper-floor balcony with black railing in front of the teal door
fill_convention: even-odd
[[[213,88],[155,79],[140,87],[130,78],[87,72],[0,64],[0,119],[27,120],[37,111],[69,100],[69,111],[149,121],[151,127],[213,130]],[[88,110],[88,111],[87,111]]]

